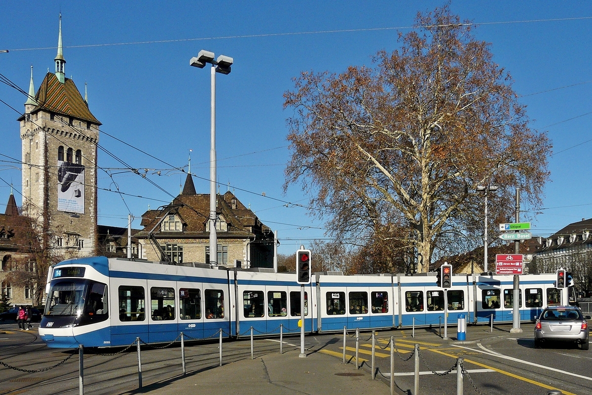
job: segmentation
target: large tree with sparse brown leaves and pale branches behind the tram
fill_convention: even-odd
[[[492,219],[509,216],[516,187],[540,203],[551,143],[472,28],[448,7],[418,14],[373,67],[303,72],[285,93],[295,115],[284,188],[314,191],[311,207],[337,239],[403,243],[427,272],[435,251],[480,236],[477,185],[500,186]]]

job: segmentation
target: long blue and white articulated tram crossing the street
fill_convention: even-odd
[[[299,332],[300,285],[294,274],[168,265],[123,258],[69,259],[48,274],[39,333],[50,347],[125,346],[194,339]],[[204,267],[195,267],[204,266]],[[268,270],[268,269],[267,269]],[[468,323],[513,321],[513,277],[453,275],[452,288],[434,275],[313,275],[305,286],[305,331],[391,329],[444,323],[456,313]],[[520,319],[547,306],[574,304],[572,288],[555,288],[554,274],[520,277]]]

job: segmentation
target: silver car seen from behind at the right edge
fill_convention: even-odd
[[[584,317],[578,307],[547,307],[536,320],[535,348],[540,348],[543,342],[561,341],[578,343],[583,350],[587,350],[589,346],[587,319],[590,319],[590,316]]]

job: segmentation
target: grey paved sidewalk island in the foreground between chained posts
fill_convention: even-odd
[[[298,351],[269,354],[255,359],[195,372],[126,394],[389,394],[384,381],[371,380],[369,371],[343,365],[320,352],[298,358]]]

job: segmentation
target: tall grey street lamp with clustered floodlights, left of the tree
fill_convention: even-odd
[[[214,60],[214,53],[201,50],[197,57],[189,60],[189,65],[200,69],[205,67],[206,63],[212,65],[211,68],[211,113],[210,113],[210,265],[218,265],[218,238],[216,235],[216,73],[230,74],[230,66],[233,59],[229,56],[220,55]]]

